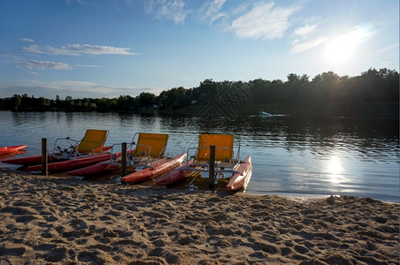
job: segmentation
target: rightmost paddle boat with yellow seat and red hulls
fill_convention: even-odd
[[[215,147],[214,164],[210,165],[211,147]],[[190,171],[208,173],[213,170],[212,181],[218,177],[225,178],[225,174],[232,174],[227,183],[228,191],[245,190],[249,184],[252,174],[251,156],[247,156],[243,161],[240,159],[240,143],[237,155],[234,155],[234,135],[224,134],[201,134],[198,139],[197,148],[188,148],[188,154],[195,155],[187,157],[186,163],[182,164],[169,174],[159,178],[158,185],[168,186],[180,183],[185,180]],[[212,168],[213,167],[213,168]]]

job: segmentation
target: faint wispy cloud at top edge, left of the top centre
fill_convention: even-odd
[[[150,0],[145,4],[145,11],[155,13],[157,19],[170,19],[175,24],[185,23],[190,11],[185,8],[183,0]]]

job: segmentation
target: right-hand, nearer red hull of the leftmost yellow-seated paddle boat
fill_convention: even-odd
[[[103,155],[90,155],[87,157],[76,158],[73,160],[60,161],[56,163],[49,163],[48,170],[49,171],[67,171],[79,169],[82,167],[87,167],[89,165],[99,163],[102,161],[106,161],[110,159],[111,154],[103,154]],[[42,164],[28,166],[28,171],[40,171],[42,170]]]

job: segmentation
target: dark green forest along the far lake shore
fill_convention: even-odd
[[[0,99],[0,110],[12,111],[199,114],[207,106],[221,115],[252,115],[264,110],[297,116],[399,117],[399,73],[386,68],[369,69],[355,77],[323,72],[311,80],[305,74],[290,73],[286,81],[205,79],[198,87],[173,87],[159,95],[142,92],[118,98],[47,99],[24,94]]]

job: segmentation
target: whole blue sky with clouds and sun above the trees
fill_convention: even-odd
[[[0,97],[399,71],[398,0],[0,0]]]

